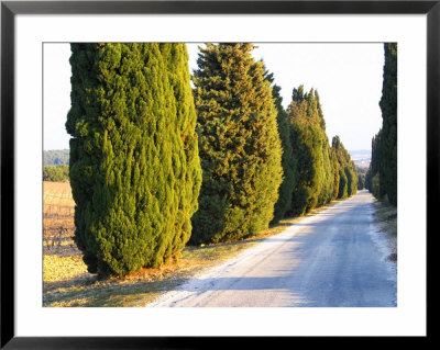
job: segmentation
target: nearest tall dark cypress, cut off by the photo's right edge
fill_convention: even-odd
[[[385,43],[380,151],[381,196],[397,205],[397,43]]]

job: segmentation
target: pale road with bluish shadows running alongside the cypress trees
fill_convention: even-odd
[[[360,191],[146,306],[396,306],[372,202]]]

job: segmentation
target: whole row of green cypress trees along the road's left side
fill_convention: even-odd
[[[318,92],[279,87],[252,44],[72,44],[69,177],[90,272],[123,275],[184,246],[250,237],[355,193]]]

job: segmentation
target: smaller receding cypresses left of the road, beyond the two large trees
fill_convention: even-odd
[[[290,201],[278,211],[274,222],[304,215],[332,200],[355,194],[356,167],[339,136],[333,137],[330,147],[318,91],[305,92],[302,86],[295,88],[293,101],[282,115],[285,122],[279,127],[287,125],[287,143],[292,147],[292,151],[287,148],[285,153],[290,160],[286,161],[289,167],[284,167],[284,171],[293,180],[279,189],[279,197]]]

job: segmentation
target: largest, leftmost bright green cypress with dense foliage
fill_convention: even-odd
[[[185,44],[72,44],[70,184],[90,272],[176,257],[201,173]]]

